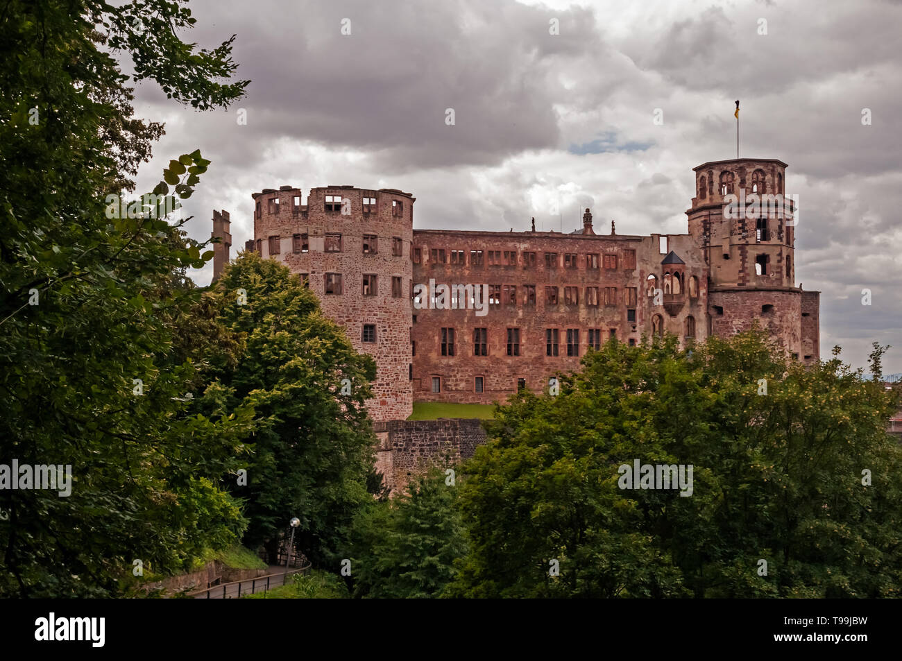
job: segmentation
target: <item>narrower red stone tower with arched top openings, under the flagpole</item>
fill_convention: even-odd
[[[709,267],[709,333],[732,335],[758,319],[800,357],[802,290],[795,286],[786,168],[777,159],[703,163],[693,169],[695,197],[686,215]]]

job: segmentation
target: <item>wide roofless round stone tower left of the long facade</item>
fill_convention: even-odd
[[[410,290],[415,197],[393,188],[266,188],[253,194],[254,249],[308,280],[323,312],[376,361],[376,421],[413,410]]]

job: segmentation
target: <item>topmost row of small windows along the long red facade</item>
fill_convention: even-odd
[[[423,249],[413,249],[413,263],[422,262]],[[467,251],[450,250],[444,248],[429,249],[429,262],[433,264],[453,264],[456,266],[465,266],[467,263]],[[515,250],[471,250],[469,264],[470,266],[522,266],[524,269],[535,269],[538,261],[538,252],[520,252]],[[578,269],[582,263],[584,268],[590,271],[607,269],[617,269],[618,257],[616,253],[601,252],[543,252],[545,268],[557,269],[561,264],[565,269]],[[622,253],[621,268],[631,271],[636,268],[636,251],[625,250]]]

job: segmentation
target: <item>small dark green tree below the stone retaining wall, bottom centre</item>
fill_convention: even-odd
[[[434,472],[355,521],[354,595],[428,599],[442,595],[466,554],[457,487]]]

